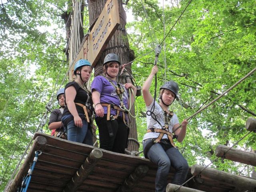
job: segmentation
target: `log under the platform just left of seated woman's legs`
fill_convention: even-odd
[[[128,178],[126,178],[124,184],[120,186],[117,192],[131,192],[132,189],[138,184],[138,181],[146,176],[148,170],[149,168],[147,165],[139,165],[136,167],[134,172],[132,172]]]

